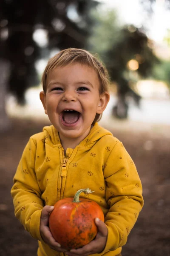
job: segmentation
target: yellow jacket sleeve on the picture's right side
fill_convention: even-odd
[[[105,164],[106,201],[110,209],[105,216],[108,240],[102,253],[116,250],[127,242],[144,201],[136,166],[122,142],[117,143]]]

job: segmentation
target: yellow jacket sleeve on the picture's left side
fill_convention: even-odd
[[[31,236],[42,240],[40,236],[40,216],[43,201],[34,170],[36,148],[36,144],[30,138],[14,175],[11,195],[14,202],[15,216]]]

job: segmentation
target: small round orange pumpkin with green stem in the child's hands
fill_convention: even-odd
[[[80,189],[74,198],[59,200],[49,216],[49,227],[54,239],[67,250],[80,248],[92,241],[97,234],[94,219],[104,221],[99,204],[84,198],[79,201],[82,192],[92,193],[90,189]]]

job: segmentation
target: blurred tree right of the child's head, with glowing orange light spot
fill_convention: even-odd
[[[129,97],[137,105],[141,98],[133,90],[133,85],[138,79],[150,77],[159,59],[153,54],[144,29],[137,29],[133,25],[120,27],[113,10],[104,15],[95,12],[94,16],[98,26],[89,39],[88,47],[99,53],[111,81],[117,84],[117,103],[113,106],[113,115],[127,118]]]

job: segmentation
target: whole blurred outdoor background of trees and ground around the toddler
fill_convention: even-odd
[[[100,125],[122,140],[142,180],[144,208],[122,255],[170,255],[170,0],[0,0],[0,255],[36,255],[10,189],[29,137],[49,125],[42,72],[69,47],[108,69]]]

